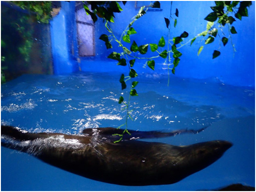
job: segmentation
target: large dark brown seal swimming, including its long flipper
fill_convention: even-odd
[[[204,128],[203,128],[204,129]],[[202,131],[203,129],[199,130]],[[32,154],[42,161],[93,180],[126,185],[163,185],[178,182],[219,159],[232,146],[227,141],[209,141],[187,146],[138,141],[137,138],[168,137],[179,132],[128,130],[123,140],[111,127],[87,128],[79,135],[31,133],[1,126],[1,145]]]

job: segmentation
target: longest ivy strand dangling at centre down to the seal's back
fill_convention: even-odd
[[[134,18],[128,24],[126,29],[123,31],[120,39],[118,40],[117,37],[115,36],[115,34],[113,33],[113,31],[111,29],[111,26],[108,23],[108,22],[113,22],[112,17],[114,17],[114,15],[111,13],[111,11],[113,11],[113,9],[106,8],[108,5],[110,5],[110,6],[111,5],[115,5],[115,6],[117,5],[118,9],[115,9],[113,12],[122,11],[121,7],[118,6],[118,3],[116,1],[113,1],[111,3],[106,3],[106,2],[105,3],[103,3],[103,2],[102,3],[94,3],[95,5],[92,5],[91,1],[89,1],[89,3],[91,4],[91,10],[95,10],[94,13],[89,10],[87,5],[84,5],[84,9],[89,15],[92,16],[93,21],[94,22],[97,21],[97,19],[95,19],[96,15],[94,16],[94,14],[97,14],[97,16],[102,17],[106,21],[105,27],[106,27],[107,31],[110,33],[110,35],[102,34],[99,38],[100,40],[105,42],[106,49],[111,49],[112,48],[111,41],[117,42],[119,44],[119,47],[122,47],[122,52],[121,53],[117,53],[117,52],[113,51],[110,55],[107,56],[107,58],[112,59],[112,60],[117,60],[117,65],[128,66],[128,69],[129,69],[129,75],[125,77],[124,74],[122,74],[120,79],[119,79],[119,82],[121,83],[122,90],[127,88],[127,81],[130,80],[130,91],[129,91],[128,102],[125,102],[124,98],[122,96],[120,96],[119,101],[118,101],[119,104],[125,104],[126,105],[125,109],[127,110],[127,118],[126,118],[126,123],[124,125],[127,126],[128,117],[130,117],[132,119],[132,117],[130,115],[132,110],[129,110],[130,96],[138,96],[138,93],[137,93],[135,88],[136,88],[136,86],[138,85],[139,82],[138,81],[133,81],[133,79],[138,76],[138,73],[133,69],[135,60],[137,58],[141,59],[140,57],[138,57],[138,55],[145,55],[148,52],[149,45],[150,45],[150,49],[151,49],[152,52],[157,51],[158,47],[164,47],[165,46],[165,40],[162,37],[159,40],[158,44],[142,44],[142,45],[139,45],[139,46],[137,45],[137,43],[135,41],[133,41],[133,43],[131,43],[130,36],[137,33],[136,30],[134,29],[134,27],[132,27],[132,25],[140,17],[142,17],[146,14],[145,6],[142,6],[140,8],[137,15],[134,16]],[[104,8],[99,8],[99,5],[103,5]],[[153,4],[151,4],[150,6],[152,8],[160,8],[160,3],[158,1],[156,1]],[[104,14],[100,14],[101,10],[105,11]],[[108,14],[110,14],[110,16]],[[131,44],[130,48],[128,49],[127,47],[125,47],[123,42]],[[128,56],[131,57],[132,59],[128,60]],[[161,57],[165,58],[167,56],[167,51],[165,50],[165,51],[159,53],[158,56],[161,56]],[[152,58],[148,58],[147,64],[150,67],[150,69],[154,70],[155,61],[152,60]],[[125,129],[122,134],[115,134],[115,135],[120,136],[120,139],[115,141],[114,143],[120,142],[122,140],[123,134],[125,134],[126,132],[127,132],[127,129]]]

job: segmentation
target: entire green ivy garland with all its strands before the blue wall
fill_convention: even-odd
[[[192,45],[195,40],[199,37],[205,37],[208,34],[208,37],[203,40],[205,40],[204,44],[211,44],[215,38],[218,36],[223,46],[225,46],[228,43],[228,40],[230,39],[230,42],[234,48],[234,44],[232,43],[231,34],[236,34],[235,27],[232,26],[233,22],[236,20],[234,17],[238,18],[239,20],[242,19],[242,16],[248,16],[248,10],[247,7],[251,5],[251,1],[215,1],[215,6],[212,6],[211,9],[213,12],[211,12],[208,16],[205,17],[205,20],[208,21],[206,25],[206,30],[199,33],[197,36],[191,38],[187,42],[185,42],[185,38],[188,38],[189,33],[184,31],[184,33],[180,34],[180,36],[177,37],[170,37],[170,29],[171,29],[171,20],[173,20],[173,27],[175,28],[177,26],[177,18],[179,16],[178,8],[175,9],[175,13],[172,14],[172,6],[173,2],[171,2],[171,9],[170,9],[170,17],[165,18],[165,24],[168,28],[168,40],[167,40],[167,49],[161,50],[161,48],[165,47],[166,41],[163,37],[159,40],[158,44],[142,44],[138,45],[135,41],[131,43],[130,36],[137,34],[136,30],[133,27],[134,22],[136,22],[140,17],[146,14],[148,8],[145,8],[145,6],[142,6],[136,16],[132,19],[132,21],[128,24],[126,29],[121,34],[120,38],[117,38],[116,35],[113,33],[113,30],[111,29],[111,25],[109,22],[114,22],[114,12],[121,12],[122,8],[120,7],[119,3],[117,1],[100,1],[100,2],[87,2],[91,5],[91,9],[87,6],[88,4],[84,4],[84,9],[88,15],[90,15],[94,22],[97,21],[97,16],[104,19],[105,27],[109,34],[102,34],[100,36],[100,40],[105,42],[106,49],[112,48],[112,41],[117,42],[118,46],[122,48],[122,52],[112,52],[110,55],[108,55],[107,58],[112,60],[117,60],[117,65],[119,66],[128,66],[128,76],[125,76],[124,74],[121,75],[119,82],[121,83],[121,88],[126,89],[127,88],[127,82],[129,81],[129,98],[128,101],[125,101],[122,96],[120,96],[118,103],[119,104],[125,104],[125,109],[127,111],[126,115],[126,122],[125,124],[121,126],[126,126],[122,134],[114,134],[120,136],[120,139],[115,141],[120,142],[122,140],[122,137],[125,133],[128,133],[127,130],[127,121],[128,117],[133,120],[131,117],[131,112],[133,110],[129,109],[130,99],[131,96],[138,96],[138,93],[135,89],[138,81],[135,81],[134,78],[138,76],[138,73],[133,69],[133,66],[135,64],[135,61],[137,59],[144,59],[147,60],[144,67],[148,66],[150,69],[155,70],[155,58],[161,57],[165,60],[165,63],[168,66],[168,85],[169,85],[169,70],[172,71],[173,74],[175,74],[175,68],[178,66],[180,62],[180,56],[182,56],[182,53],[178,51],[181,47],[183,47],[186,44]],[[126,1],[122,1],[123,5],[125,5]],[[155,1],[153,4],[150,4],[149,7],[152,8],[160,8],[160,2]],[[96,16],[97,15],[97,16]],[[231,15],[234,15],[231,16]],[[217,21],[217,23],[215,23]],[[229,34],[226,35],[223,32],[223,27],[225,25],[228,25],[228,32]],[[219,30],[218,30],[219,29]],[[222,32],[222,34],[219,34],[219,31]],[[130,48],[128,49],[123,45],[123,42],[129,43]],[[203,50],[205,45],[201,45],[198,49],[197,55],[199,56],[201,51]],[[155,52],[156,55],[152,57],[141,57],[140,55],[145,55],[148,50],[152,52]],[[212,59],[218,57],[220,55],[219,50],[214,50],[212,54]],[[172,66],[172,67],[171,67]],[[120,128],[119,126],[118,128]]]

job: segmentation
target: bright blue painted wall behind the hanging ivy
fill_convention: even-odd
[[[149,1],[147,1],[149,2]],[[168,30],[164,21],[164,17],[169,18],[170,1],[160,1],[162,11],[148,11],[142,16],[133,27],[137,34],[131,35],[131,42],[136,41],[138,45],[155,43],[158,44],[159,39],[163,36],[167,39]],[[141,2],[140,2],[141,3]],[[117,44],[112,44],[113,49],[106,49],[105,43],[99,40],[101,34],[109,34],[105,28],[105,24],[99,19],[95,23],[95,57],[82,57],[81,62],[77,62],[78,49],[76,40],[76,23],[74,13],[74,2],[61,2],[62,8],[58,16],[51,22],[51,36],[53,60],[56,74],[70,73],[78,71],[97,71],[108,72],[118,71],[126,72],[127,66],[117,66],[117,62],[113,62],[106,57],[112,51],[118,51]],[[115,14],[115,23],[111,23],[111,27],[117,37],[120,37],[122,31],[135,16],[138,9],[135,9],[135,2],[128,1],[125,6],[120,3],[123,8],[122,13]],[[179,36],[184,31],[189,33],[189,38],[193,38],[198,33],[206,29],[206,21],[204,18],[211,12],[210,6],[214,6],[214,1],[173,1],[173,10],[179,10],[178,23],[176,28],[171,28],[171,37]],[[184,46],[179,49],[183,55],[181,61],[176,68],[177,77],[185,78],[218,78],[224,83],[237,86],[255,87],[255,2],[250,6],[249,17],[243,17],[242,22],[236,19],[234,27],[237,34],[232,35],[232,41],[237,52],[233,54],[230,40],[223,47],[221,44],[221,55],[212,59],[214,49],[219,48],[219,39],[216,38],[212,44],[204,47],[200,56],[197,51],[204,41],[196,40],[192,46]],[[175,17],[175,16],[174,16]],[[173,21],[171,21],[173,26]],[[228,36],[227,27],[223,28],[224,33]],[[206,36],[207,38],[207,36]],[[130,48],[131,44],[124,43]],[[167,45],[162,49],[167,49]],[[147,56],[154,55],[149,48]],[[143,55],[144,56],[144,55]],[[136,60],[134,69],[138,72],[145,73],[161,73],[167,74],[166,66],[163,66],[164,59],[156,59],[155,71],[150,68],[143,68],[146,60]]]

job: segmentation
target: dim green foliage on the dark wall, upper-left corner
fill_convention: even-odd
[[[1,48],[6,49],[3,51],[5,55],[1,55],[2,64],[5,62],[10,62],[11,60],[17,59],[17,55],[21,55],[25,62],[25,67],[30,61],[31,49],[33,46],[33,26],[31,21],[37,21],[41,23],[49,23],[51,19],[52,2],[51,1],[11,1],[11,4],[21,7],[23,10],[27,10],[28,14],[21,14],[18,16],[15,22],[11,22],[9,26],[13,31],[17,32],[19,37],[21,37],[20,43],[17,45],[17,54],[15,57],[13,53],[15,52],[11,46],[13,42],[11,39],[1,38]],[[5,30],[1,28],[1,31]],[[16,52],[15,52],[16,53]],[[6,74],[8,66],[1,66],[1,82],[6,82]],[[7,72],[8,73],[8,72]],[[7,74],[7,79],[10,75]]]

